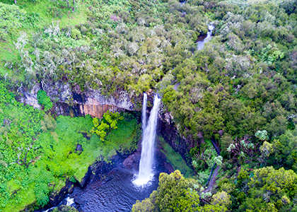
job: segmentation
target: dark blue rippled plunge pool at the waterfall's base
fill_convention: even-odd
[[[85,212],[131,211],[136,200],[145,199],[158,187],[158,175],[153,177],[151,184],[143,188],[134,186],[134,173],[130,170],[118,168],[108,175],[111,178],[105,184],[97,181],[84,189],[76,187],[69,197],[81,205],[71,206],[79,206]]]

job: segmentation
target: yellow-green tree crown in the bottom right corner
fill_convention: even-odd
[[[297,175],[292,170],[263,167],[254,170],[252,177],[240,171],[237,179],[237,188],[243,192],[231,194],[242,202],[240,211],[290,211],[293,208],[290,198],[296,195]]]

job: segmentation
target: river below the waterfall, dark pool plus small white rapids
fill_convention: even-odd
[[[173,167],[166,162],[165,155],[161,151],[156,151],[155,154],[153,177],[146,186],[137,187],[133,183],[138,173],[138,165],[126,168],[122,160],[117,160],[105,175],[93,175],[86,187],[81,188],[78,184],[75,185],[74,191],[59,205],[74,206],[78,211],[84,212],[131,211],[136,200],[141,201],[149,197],[151,192],[157,189],[158,176],[161,172],[173,171]],[[41,211],[50,212],[52,209],[45,208]]]

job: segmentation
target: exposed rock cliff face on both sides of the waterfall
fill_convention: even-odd
[[[54,114],[56,115],[70,115],[84,116],[90,114],[92,117],[101,118],[107,110],[111,112],[122,111],[134,111],[136,108],[130,100],[127,93],[122,91],[118,98],[105,98],[104,95],[98,90],[87,90],[81,92],[78,86],[70,88],[69,84],[55,83],[52,85],[36,84],[32,90],[22,90],[23,97],[20,98],[21,102],[32,105],[35,108],[39,108],[37,101],[37,91],[43,88],[47,91],[47,95],[50,96],[52,102],[54,102]],[[148,110],[151,110],[153,105],[154,93],[148,91]],[[141,98],[139,96],[139,98]],[[139,101],[141,101],[139,99]],[[184,158],[187,163],[190,163],[188,157],[189,146],[185,138],[182,138],[175,127],[173,117],[170,112],[165,112],[163,104],[160,106],[158,115],[158,134],[163,138],[170,146]]]

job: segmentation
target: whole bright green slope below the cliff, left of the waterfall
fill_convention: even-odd
[[[21,211],[34,202],[45,206],[66,179],[80,181],[96,158],[108,161],[112,151],[136,149],[140,128],[132,114],[105,115],[114,124],[102,143],[95,134],[84,137],[92,129],[91,116],[59,116],[56,121],[17,102],[3,83],[0,86],[0,211]],[[114,117],[119,122],[113,122]],[[76,151],[78,143],[83,151]]]

